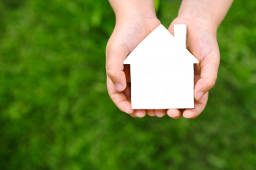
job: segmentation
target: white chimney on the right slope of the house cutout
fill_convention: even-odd
[[[187,25],[175,24],[174,25],[174,37],[179,47],[187,48]]]

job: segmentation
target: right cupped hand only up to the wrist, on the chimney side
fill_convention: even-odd
[[[194,109],[168,109],[167,115],[178,118],[195,118],[203,112],[208,100],[208,90],[214,87],[219,68],[219,47],[217,44],[217,27],[210,22],[195,21],[178,17],[170,24],[173,34],[174,24],[186,24],[187,49],[195,55],[199,63],[195,64],[195,107]]]

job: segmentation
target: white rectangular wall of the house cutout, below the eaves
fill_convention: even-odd
[[[131,66],[132,109],[194,107],[194,69],[182,65]]]

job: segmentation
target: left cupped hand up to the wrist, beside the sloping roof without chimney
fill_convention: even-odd
[[[154,9],[154,8],[153,8]],[[129,12],[116,20],[113,34],[110,36],[106,50],[107,87],[110,98],[123,112],[132,117],[155,115],[154,110],[133,110],[130,103],[131,88],[129,66],[124,65],[124,59],[132,50],[160,25],[157,16],[143,15],[138,10]],[[150,14],[150,13],[149,13]],[[157,115],[163,116],[166,111],[157,110]]]

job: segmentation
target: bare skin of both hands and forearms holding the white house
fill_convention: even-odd
[[[200,63],[195,65],[194,109],[136,109],[130,103],[131,88],[129,66],[123,64],[127,55],[161,23],[157,19],[152,0],[110,0],[116,14],[116,26],[106,49],[107,86],[110,98],[123,112],[132,117],[150,116],[195,118],[203,112],[208,100],[208,90],[217,80],[219,47],[217,28],[233,0],[183,0],[178,17],[170,24],[188,26],[187,49]],[[154,82],[152,82],[154,83]],[[150,92],[148,92],[150,93]]]

